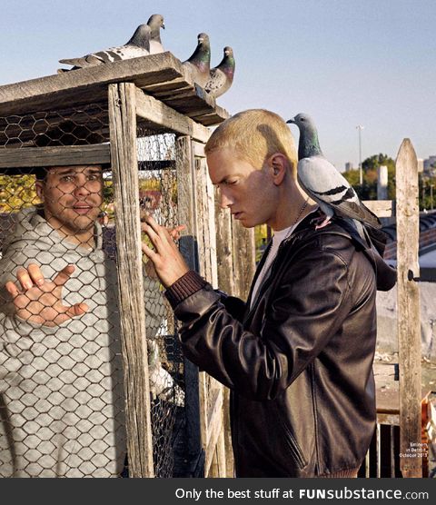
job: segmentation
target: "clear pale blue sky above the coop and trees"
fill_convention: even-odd
[[[165,49],[182,61],[196,35],[212,64],[231,45],[236,71],[218,104],[234,114],[263,107],[311,114],[324,154],[342,170],[362,158],[395,158],[411,138],[436,154],[434,0],[2,0],[0,85],[55,74],[61,58],[124,44],[162,14]],[[295,135],[296,131],[292,130]]]

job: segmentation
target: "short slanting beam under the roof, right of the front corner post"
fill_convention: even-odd
[[[203,124],[195,123],[189,117],[177,113],[153,96],[136,89],[136,112],[147,122],[164,127],[177,134],[191,135],[193,139],[207,142],[210,132]]]

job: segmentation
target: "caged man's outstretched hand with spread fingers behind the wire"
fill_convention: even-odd
[[[62,288],[74,272],[74,266],[65,266],[53,281],[47,281],[38,265],[29,264],[16,272],[17,284],[6,282],[5,288],[13,298],[16,315],[28,322],[44,326],[58,326],[88,311],[85,303],[64,305]]]

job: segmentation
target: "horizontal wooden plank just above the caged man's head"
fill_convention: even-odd
[[[0,149],[0,169],[111,163],[109,144]]]

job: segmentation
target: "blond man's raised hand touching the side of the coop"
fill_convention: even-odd
[[[153,262],[157,276],[163,286],[167,288],[186,272],[189,272],[189,268],[175,242],[178,238],[178,232],[183,229],[183,226],[178,226],[169,231],[156,223],[151,215],[147,215],[144,217],[144,223],[141,227],[154,246],[153,250],[143,242],[143,253]]]

